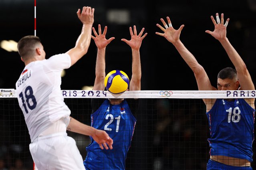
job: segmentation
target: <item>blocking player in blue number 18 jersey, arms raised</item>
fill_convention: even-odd
[[[169,17],[167,17],[169,27],[161,18],[165,28],[159,24],[157,26],[164,33],[157,32],[156,34],[165,37],[175,46],[194,72],[199,90],[254,91],[255,87],[244,61],[226,37],[229,18],[225,24],[224,14],[221,14],[221,20],[218,13],[216,14],[217,22],[213,16],[211,19],[215,29],[213,32],[207,30],[206,33],[212,35],[222,44],[236,68],[227,67],[218,73],[218,89],[211,85],[202,65],[179,39],[184,25],[175,30]],[[255,99],[203,99],[203,101],[206,104],[206,115],[210,126],[208,142],[211,148],[207,170],[251,170]]]

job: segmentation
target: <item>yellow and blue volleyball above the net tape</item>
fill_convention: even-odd
[[[104,83],[107,91],[119,94],[129,88],[129,77],[121,70],[113,70],[106,75]]]

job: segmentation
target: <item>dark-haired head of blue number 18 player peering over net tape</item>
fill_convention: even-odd
[[[239,81],[236,70],[226,67],[218,73],[217,77],[218,90],[237,90]]]

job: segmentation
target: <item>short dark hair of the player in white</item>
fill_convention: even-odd
[[[20,57],[28,59],[28,57],[33,56],[36,47],[38,47],[40,43],[40,38],[37,36],[25,36],[21,38],[17,45]]]

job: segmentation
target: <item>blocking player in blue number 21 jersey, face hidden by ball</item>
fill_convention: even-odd
[[[93,90],[105,89],[105,50],[114,37],[105,38],[107,26],[101,33],[101,25],[98,25],[99,34],[93,28],[92,36],[98,48],[96,59],[96,77]],[[137,35],[136,27],[130,27],[131,40],[122,39],[132,50],[132,77],[129,85],[131,91],[141,89],[141,61],[139,48],[143,38],[144,28]],[[91,144],[87,146],[87,156],[84,161],[86,170],[124,170],[127,152],[131,146],[133,131],[135,128],[135,114],[138,99],[92,99],[91,126],[105,130],[113,139],[112,150],[100,150],[99,146],[91,138]]]

